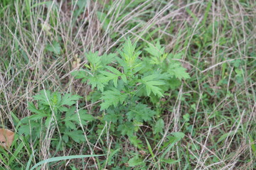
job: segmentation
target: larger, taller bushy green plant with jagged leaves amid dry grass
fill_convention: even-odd
[[[181,54],[167,54],[164,50],[157,42],[156,46],[149,45],[145,49],[146,57],[140,57],[142,52],[128,39],[122,50],[118,50],[119,56],[86,53],[86,69],[73,72],[76,79],[82,79],[95,89],[94,100],[102,100],[102,120],[112,122],[112,126],[117,127],[121,135],[127,135],[136,147],[142,146],[134,132],[145,123],[155,124],[154,104],[165,96],[165,91],[174,87],[174,82],[189,78],[178,62]],[[163,120],[157,121],[154,133],[162,132],[159,128],[164,128]]]

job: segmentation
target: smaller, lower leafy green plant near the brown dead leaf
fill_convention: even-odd
[[[65,143],[70,139],[75,142],[85,142],[80,127],[95,118],[75,106],[80,96],[71,94],[61,96],[57,92],[43,90],[33,98],[38,101],[37,107],[32,102],[28,103],[28,110],[34,114],[21,120],[22,125],[18,128],[20,134],[36,140],[46,135],[47,130],[56,129]],[[57,140],[57,142],[62,141]]]

